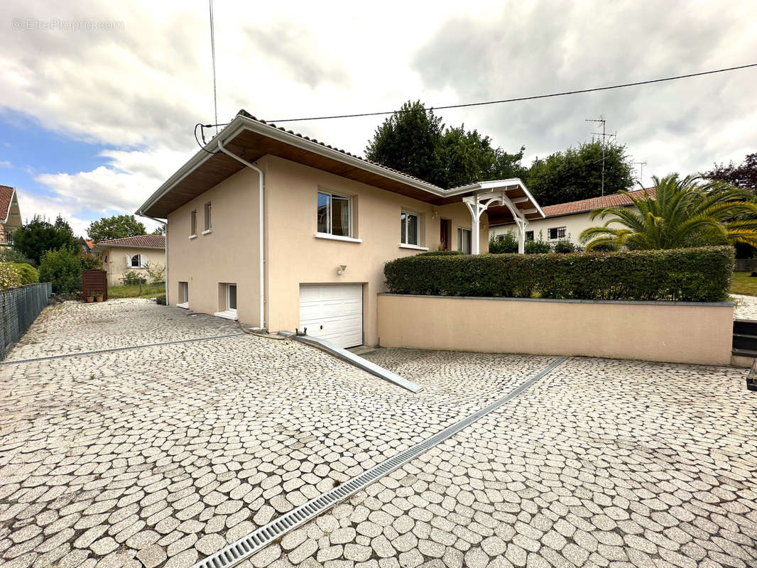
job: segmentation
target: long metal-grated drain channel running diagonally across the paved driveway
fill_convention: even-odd
[[[481,408],[481,410],[463,418],[463,420],[460,420],[458,423],[455,423],[452,426],[447,426],[447,428],[441,430],[441,432],[437,432],[430,438],[426,438],[423,442],[419,442],[418,444],[407,448],[407,450],[401,451],[396,456],[390,457],[388,460],[360,473],[359,476],[353,477],[348,482],[344,482],[341,485],[338,485],[338,487],[319,495],[319,497],[311,499],[306,504],[283,514],[281,517],[271,521],[266,526],[260,527],[260,529],[251,532],[249,535],[240,538],[238,541],[232,542],[232,544],[226,548],[222,548],[220,551],[211,554],[209,557],[196,563],[192,568],[229,568],[230,566],[235,566],[246,560],[257,551],[260,551],[261,548],[269,545],[277,538],[281,538],[285,533],[313,520],[313,518],[318,517],[321,513],[325,513],[326,510],[329,510],[335,504],[344,501],[344,499],[350,497],[350,495],[354,495],[359,492],[360,489],[365,488],[377,479],[381,479],[383,476],[393,472],[405,463],[416,459],[416,457],[424,454],[435,445],[444,442],[444,440],[455,435],[466,426],[470,426],[479,418],[489,414],[492,410],[496,410],[497,407],[516,398],[516,396],[520,395],[525,389],[528,389],[528,387],[533,385],[534,382],[537,382],[539,379],[547,375],[547,373],[550,373],[550,371],[567,358],[567,356],[557,358],[543,371],[532,376],[531,379],[528,379],[521,385],[518,385],[515,389],[512,389],[512,391],[507,393],[507,395],[503,396],[503,398],[489,404],[488,407]]]

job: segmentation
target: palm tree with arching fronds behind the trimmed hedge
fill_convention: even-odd
[[[727,183],[700,183],[677,173],[653,177],[656,195],[628,195],[634,208],[612,206],[591,212],[606,220],[581,233],[586,250],[597,248],[683,248],[743,243],[757,247],[757,204],[753,195]],[[615,226],[613,226],[615,225]]]

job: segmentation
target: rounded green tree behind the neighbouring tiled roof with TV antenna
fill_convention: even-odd
[[[605,149],[605,195],[634,184],[631,157],[625,145],[608,143]],[[536,158],[525,183],[540,205],[578,201],[602,195],[602,142],[584,142],[575,148]]]

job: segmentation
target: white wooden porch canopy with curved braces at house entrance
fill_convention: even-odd
[[[518,178],[497,179],[491,182],[478,182],[470,186],[456,188],[456,192],[471,192],[463,197],[463,203],[471,214],[471,253],[479,254],[479,227],[481,214],[488,212],[490,223],[512,220],[518,228],[518,252],[525,251],[525,227],[532,219],[543,219],[541,211],[531,193]]]

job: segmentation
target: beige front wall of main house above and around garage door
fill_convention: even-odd
[[[420,244],[440,246],[440,223],[450,220],[450,249],[456,250],[457,229],[471,228],[465,204],[435,206],[335,174],[269,156],[266,171],[268,243],[266,286],[269,329],[294,331],[299,324],[300,286],[319,283],[363,285],[363,333],[375,345],[376,294],[385,291],[383,267],[397,257],[422,252],[400,247],[400,214],[419,214]],[[362,242],[316,238],[319,190],[351,198],[353,237]],[[481,219],[481,251],[488,251],[488,221]],[[338,275],[340,264],[346,264]]]

